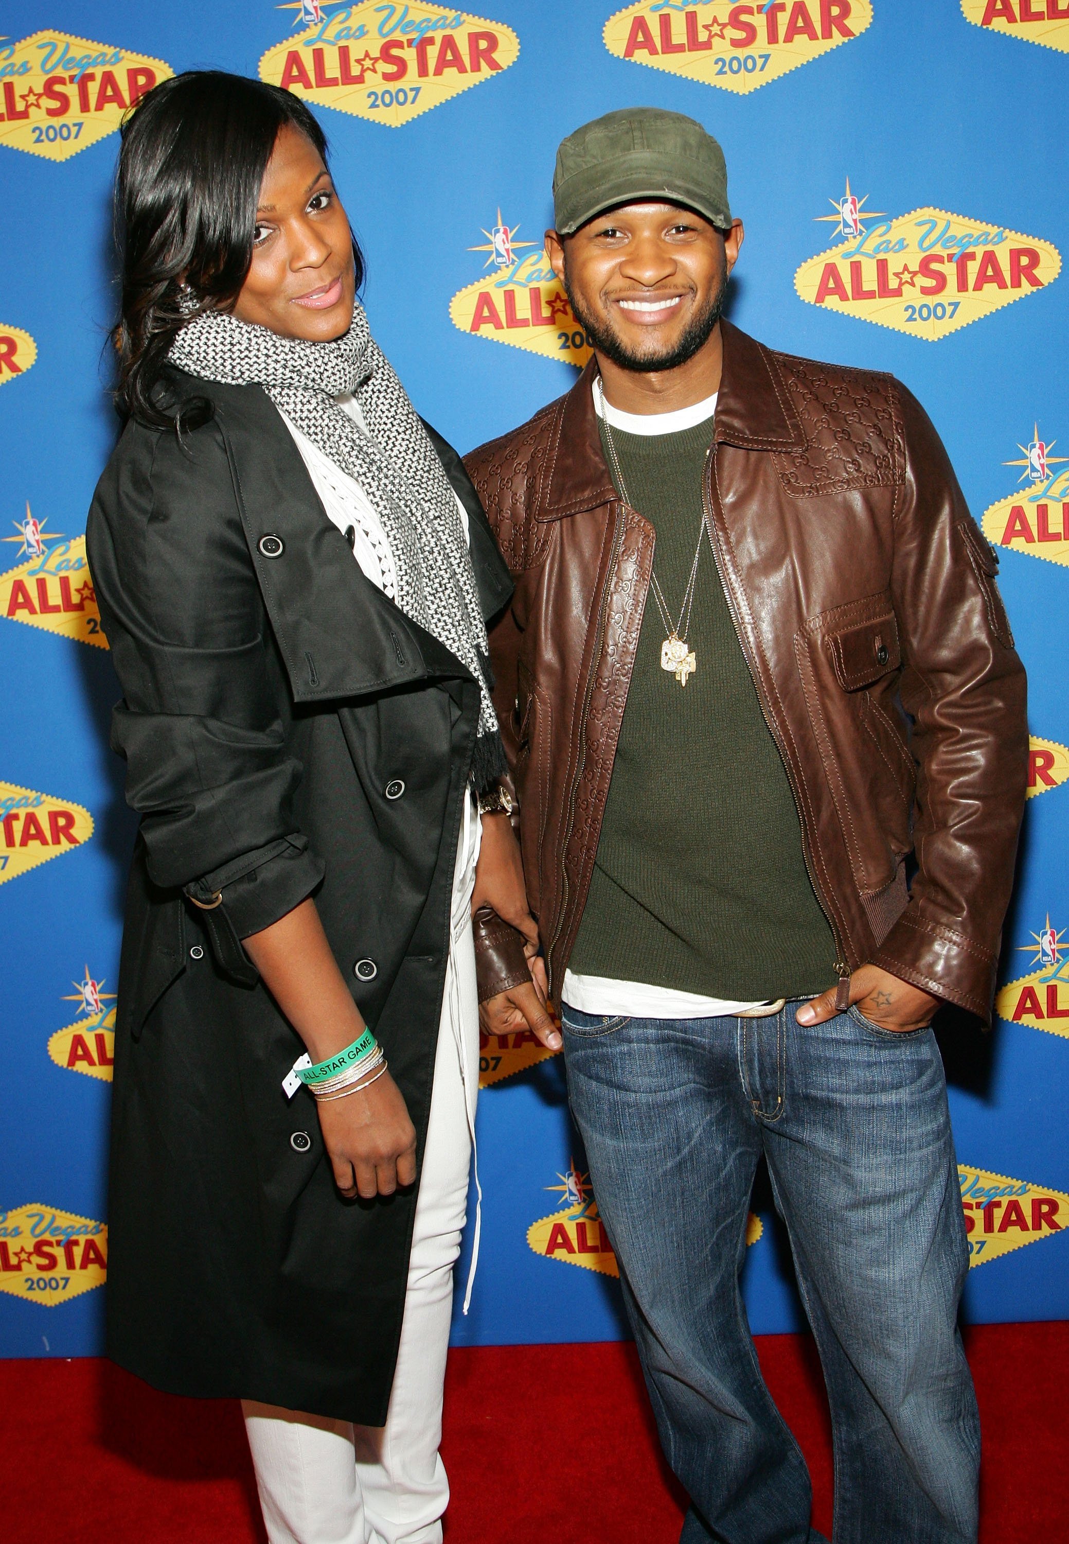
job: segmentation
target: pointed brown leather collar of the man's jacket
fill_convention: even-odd
[[[787,397],[774,355],[730,321],[720,321],[720,337],[723,374],[716,403],[716,443],[747,451],[802,449],[802,423]],[[597,363],[591,358],[568,395],[555,405],[537,520],[560,520],[617,497],[597,429],[595,377]]]

